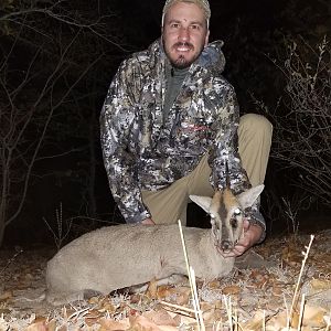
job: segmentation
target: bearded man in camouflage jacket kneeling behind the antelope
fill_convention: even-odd
[[[167,0],[162,38],[122,62],[106,97],[102,145],[110,190],[127,223],[186,222],[189,195],[239,193],[264,181],[271,125],[242,118],[222,76],[222,42],[209,44],[207,0]],[[238,134],[239,152],[238,154]],[[226,170],[227,164],[228,170]],[[255,204],[231,256],[265,237]]]

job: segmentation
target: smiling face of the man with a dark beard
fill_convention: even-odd
[[[178,2],[167,12],[162,29],[164,51],[177,68],[189,67],[209,42],[202,9],[195,3]]]

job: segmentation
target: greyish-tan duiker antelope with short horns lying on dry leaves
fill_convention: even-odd
[[[227,275],[234,258],[224,258],[243,232],[243,211],[252,206],[263,185],[237,196],[229,189],[213,197],[190,196],[211,215],[212,228],[183,227],[190,265],[196,277]],[[118,225],[87,233],[64,246],[46,268],[46,300],[62,305],[84,292],[107,295],[171,275],[186,275],[180,231],[173,225]]]

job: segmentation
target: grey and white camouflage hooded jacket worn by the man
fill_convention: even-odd
[[[211,183],[225,186],[225,161],[235,192],[249,188],[237,151],[239,110],[222,76],[222,42],[206,46],[191,65],[163,120],[167,76],[162,43],[124,61],[100,116],[102,146],[110,190],[126,222],[149,217],[140,190],[160,190],[189,174],[210,153]],[[264,224],[257,206],[254,218]]]

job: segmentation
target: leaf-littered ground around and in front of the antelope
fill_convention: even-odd
[[[310,243],[302,268],[302,253]],[[331,229],[313,238],[306,234],[268,238],[254,252],[254,258],[245,258],[228,277],[197,282],[200,325],[288,330],[291,324],[298,330],[331,330]],[[118,292],[66,307],[47,306],[44,270],[53,254],[45,248],[0,250],[0,331],[197,328],[188,285],[157,288],[151,281],[142,295]]]

